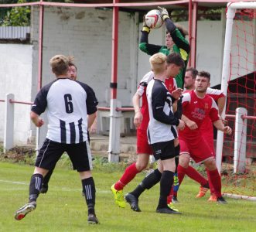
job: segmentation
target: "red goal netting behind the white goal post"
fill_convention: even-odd
[[[224,161],[223,170],[223,191],[226,193],[256,196],[256,10],[239,9],[234,17],[232,31],[232,43],[230,51],[230,79],[227,90],[227,121],[233,130],[235,128],[235,118],[237,107],[247,109],[246,121],[242,121],[242,131],[246,127],[246,135],[242,135],[239,141],[233,135],[224,138]],[[239,131],[241,132],[241,131]],[[244,136],[246,142],[242,142]],[[234,149],[234,143],[238,147]],[[241,159],[245,146],[246,159]],[[236,151],[237,150],[237,151]],[[238,152],[237,160],[234,160],[234,153]],[[245,171],[234,173],[234,161],[238,165],[244,164]],[[243,163],[241,163],[243,162]]]

